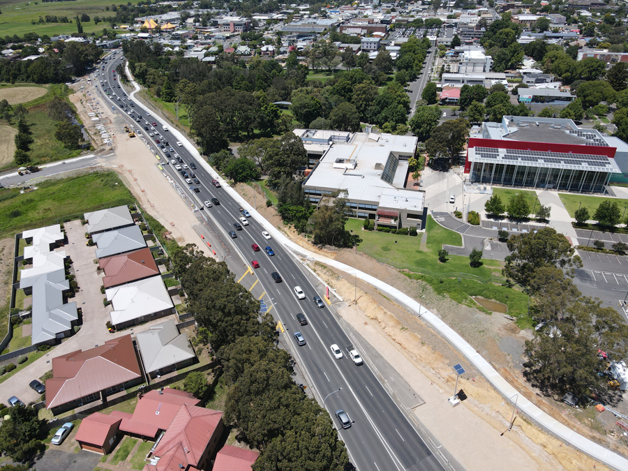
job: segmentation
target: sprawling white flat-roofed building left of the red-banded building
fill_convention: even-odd
[[[328,204],[332,193],[347,190],[347,205],[358,218],[375,225],[421,229],[425,193],[405,189],[408,160],[417,137],[295,129],[304,142],[313,170],[304,193],[313,204]]]

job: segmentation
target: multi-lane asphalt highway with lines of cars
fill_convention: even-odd
[[[113,90],[114,93],[117,96],[124,96],[126,98],[124,101],[129,103],[130,98],[124,92],[124,88],[118,89],[118,82],[113,80],[112,70],[123,61],[120,51],[114,61],[106,63],[105,78],[107,84],[116,85]],[[101,75],[94,77],[94,79],[104,80],[102,68],[99,72]],[[100,87],[100,83],[98,85]],[[114,105],[117,110],[121,109],[123,100],[117,100],[116,96],[109,99],[112,101],[110,106]],[[135,106],[135,108],[126,107],[124,109],[123,114],[129,122],[131,119],[127,114],[128,110],[133,110],[133,114],[136,116],[138,112],[142,114],[144,119],[141,120],[141,123],[133,121],[133,124],[136,127],[141,124],[141,133],[147,136],[143,129],[144,126],[150,128],[151,123],[157,120],[145,116],[145,113]],[[149,124],[144,124],[145,122]],[[211,221],[212,227],[216,228],[220,239],[233,255],[233,257],[228,257],[227,261],[234,264],[235,267],[240,267],[240,273],[242,272],[242,264],[234,262],[234,259],[237,260],[236,255],[239,255],[242,261],[249,266],[251,266],[252,260],[259,262],[260,267],[258,269],[248,268],[251,276],[257,277],[256,281],[253,282],[253,278],[245,273],[249,280],[248,283],[253,283],[253,286],[247,284],[245,287],[251,286],[248,289],[252,293],[254,286],[255,293],[261,290],[262,295],[260,297],[255,295],[255,297],[257,299],[262,298],[275,320],[283,324],[285,332],[281,334],[282,343],[290,350],[295,361],[304,371],[312,389],[317,392],[318,402],[324,405],[324,408],[331,415],[341,440],[347,446],[350,461],[355,468],[359,471],[450,469],[442,464],[433,450],[428,447],[408,417],[398,408],[398,405],[377,380],[368,364],[365,362],[365,364],[357,366],[347,357],[345,347],[351,341],[336,320],[333,306],[326,302],[324,308],[318,308],[313,302],[313,296],[318,294],[322,297],[324,294],[322,283],[316,284],[311,281],[315,278],[281,244],[278,244],[274,239],[264,239],[262,236],[264,227],[255,218],[248,218],[248,225],[244,226],[242,230],[236,231],[237,239],[231,239],[227,233],[235,230],[233,224],[239,222],[241,216],[238,211],[239,204],[223,188],[215,188],[211,185],[212,179],[216,176],[210,173],[207,163],[197,161],[197,158],[194,158],[185,146],[177,146],[175,144],[177,138],[170,131],[163,130],[163,126],[159,123],[154,127],[160,131],[160,134],[169,142],[169,147],[173,147],[174,152],[179,154],[186,165],[190,166],[191,163],[195,163],[196,170],[186,171],[188,174],[194,172],[195,177],[200,180],[200,184],[186,184],[179,172],[173,168],[174,165],[165,164],[166,158],[160,154],[163,171],[177,181],[179,186],[186,190],[189,197],[196,199],[199,207],[202,207],[202,202],[211,198],[219,200],[219,205],[205,207],[203,211]],[[154,138],[152,138],[153,145],[156,147]],[[157,152],[159,154],[160,151],[157,150]],[[190,190],[190,187],[197,187],[199,192],[195,193]],[[173,192],[172,197],[179,196]],[[254,252],[251,244],[257,244],[262,250]],[[271,246],[274,256],[269,256],[264,252],[266,246]],[[232,265],[230,265],[231,268]],[[281,274],[283,282],[274,283],[271,278],[272,272]],[[237,274],[237,278],[239,278],[239,274]],[[306,299],[299,300],[295,296],[293,289],[297,285],[304,290]],[[317,292],[316,288],[319,288],[320,292]],[[297,313],[304,313],[308,320],[307,325],[301,326],[297,322],[295,317]],[[294,339],[294,332],[296,331],[301,331],[306,345],[297,345]],[[329,347],[334,343],[343,350],[344,357],[342,359],[334,359],[331,354]],[[339,388],[342,389],[338,391]],[[326,399],[324,400],[324,398]],[[343,409],[349,414],[352,420],[350,428],[341,428],[334,413],[338,409]],[[439,454],[440,451],[442,450],[439,450]]]

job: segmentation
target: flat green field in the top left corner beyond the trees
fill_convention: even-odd
[[[55,1],[41,3],[36,1],[1,1],[0,31],[2,36],[23,36],[24,33],[36,32],[40,36],[57,36],[59,34],[77,33],[74,17],[86,13],[91,18],[90,22],[82,22],[84,33],[100,33],[103,28],[111,29],[108,23],[94,24],[95,16],[112,16],[115,13],[105,11],[105,7],[111,6],[110,0],[76,0]],[[133,2],[135,3],[135,2]],[[126,3],[125,3],[126,4]],[[46,15],[66,16],[72,23],[45,23],[31,24],[31,20],[38,21],[39,17]]]

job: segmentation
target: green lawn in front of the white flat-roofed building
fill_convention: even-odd
[[[384,232],[364,231],[363,221],[347,220],[347,230],[352,230],[361,241],[357,250],[370,255],[380,262],[390,264],[398,269],[408,269],[440,278],[441,276],[479,276],[488,280],[492,276],[500,276],[502,264],[496,260],[483,260],[484,264],[472,268],[468,257],[450,255],[445,263],[438,261],[438,251],[443,244],[462,245],[460,234],[447,230],[428,217],[427,250],[421,250],[421,234],[417,237],[386,234]],[[396,241],[396,244],[395,244]]]

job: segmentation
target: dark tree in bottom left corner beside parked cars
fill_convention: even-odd
[[[9,418],[0,425],[0,451],[14,461],[30,461],[45,450],[40,442],[45,420],[37,417],[34,408],[17,405],[10,409]]]

